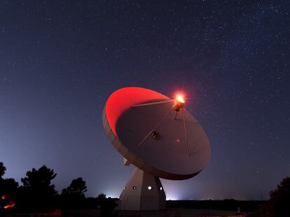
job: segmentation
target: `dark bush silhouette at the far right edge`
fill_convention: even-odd
[[[284,178],[275,190],[270,191],[269,204],[273,216],[290,216],[290,177]]]

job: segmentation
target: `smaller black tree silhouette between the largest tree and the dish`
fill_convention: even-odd
[[[87,186],[83,178],[73,179],[69,187],[62,189],[62,195],[76,195],[84,197],[84,193],[87,191]]]

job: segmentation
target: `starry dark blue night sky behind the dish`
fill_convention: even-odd
[[[125,167],[102,126],[109,95],[173,96],[212,146],[167,200],[265,200],[290,175],[290,1],[0,1],[0,161],[20,181],[45,164],[57,190],[118,197]],[[21,183],[20,183],[21,184]]]

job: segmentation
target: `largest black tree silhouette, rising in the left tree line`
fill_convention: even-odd
[[[33,168],[32,171],[28,171],[26,177],[22,178],[21,181],[23,188],[26,188],[34,195],[53,196],[57,191],[51,181],[55,179],[56,175],[53,170],[43,165],[39,170]]]

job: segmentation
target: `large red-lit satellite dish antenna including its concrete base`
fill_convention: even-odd
[[[165,209],[158,177],[190,179],[209,162],[207,135],[185,103],[182,95],[172,99],[141,87],[125,87],[109,96],[104,129],[124,164],[136,166],[120,194],[120,209]]]

